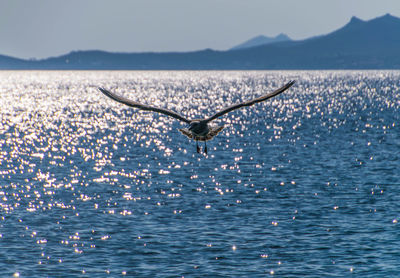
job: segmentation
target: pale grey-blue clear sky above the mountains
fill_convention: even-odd
[[[0,54],[226,50],[258,35],[327,34],[352,16],[400,17],[400,0],[0,0]]]

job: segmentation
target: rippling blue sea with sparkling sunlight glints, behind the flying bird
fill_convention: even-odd
[[[97,90],[199,118],[289,80],[208,155]],[[0,107],[2,277],[400,277],[399,71],[3,71]]]

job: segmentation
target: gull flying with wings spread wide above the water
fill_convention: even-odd
[[[238,104],[233,104],[229,107],[226,107],[225,109],[222,109],[221,111],[215,113],[214,115],[208,117],[208,118],[203,118],[203,119],[188,119],[172,110],[165,109],[165,108],[160,108],[160,107],[154,107],[146,104],[142,104],[130,99],[127,99],[123,96],[116,95],[114,93],[111,93],[110,91],[99,87],[98,89],[107,97],[123,103],[125,105],[128,105],[133,108],[138,108],[140,110],[145,110],[145,111],[153,111],[157,113],[161,113],[167,116],[170,116],[172,118],[175,118],[179,121],[182,121],[186,124],[188,124],[188,128],[179,128],[178,130],[185,136],[187,136],[189,139],[193,139],[196,141],[196,149],[197,152],[200,153],[201,149],[199,147],[198,141],[204,141],[204,153],[207,155],[207,141],[211,140],[216,136],[219,132],[222,131],[224,126],[212,126],[210,125],[210,122],[233,111],[236,109],[239,109],[241,107],[245,106],[251,106],[253,104],[265,101],[267,99],[270,99],[272,97],[275,97],[279,95],[280,93],[283,93],[287,89],[289,89],[293,84],[295,83],[295,80],[292,80],[288,83],[286,83],[284,86],[280,87],[279,89],[276,89],[275,91],[271,93],[266,93],[264,95],[261,95],[258,98],[244,101]]]

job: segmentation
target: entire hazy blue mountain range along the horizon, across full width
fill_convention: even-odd
[[[227,51],[74,51],[42,60],[0,55],[0,69],[400,69],[400,18],[390,14],[369,21],[353,17],[348,24],[332,33],[305,40],[265,40],[266,43],[261,45],[260,41],[261,38],[254,38]]]

